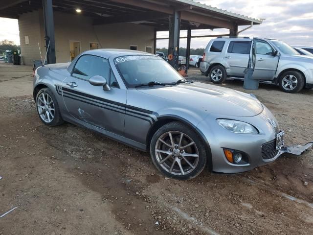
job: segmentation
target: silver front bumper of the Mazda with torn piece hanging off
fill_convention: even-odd
[[[240,121],[245,121],[254,125],[259,134],[236,134],[225,130],[216,122],[216,118],[229,118]],[[301,155],[306,150],[312,148],[313,142],[306,145],[298,146],[282,146],[280,150],[275,151],[276,144],[274,144],[275,151],[270,158],[265,156],[265,144],[276,140],[276,134],[279,132],[278,128],[274,128],[269,122],[268,118],[273,119],[271,113],[265,107],[264,111],[254,117],[220,117],[209,115],[198,124],[198,129],[202,132],[203,137],[207,141],[209,149],[211,150],[211,169],[214,172],[223,173],[239,173],[252,170],[255,167],[265,165],[275,161],[284,153]],[[276,121],[276,120],[275,120]],[[224,149],[232,149],[246,154],[248,159],[247,164],[232,164],[228,162],[225,157]]]

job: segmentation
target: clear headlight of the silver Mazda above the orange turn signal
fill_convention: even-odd
[[[252,133],[258,134],[258,130],[249,123],[230,119],[216,119],[220,126],[234,133]]]

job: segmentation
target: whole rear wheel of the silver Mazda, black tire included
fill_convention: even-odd
[[[47,101],[46,103],[49,104],[45,105],[43,101]],[[58,101],[49,88],[43,88],[38,92],[36,96],[36,110],[40,120],[47,126],[58,126],[64,122]]]

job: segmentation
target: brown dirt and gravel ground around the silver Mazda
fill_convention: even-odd
[[[0,66],[0,215],[18,207],[0,218],[0,235],[313,234],[312,151],[242,174],[168,179],[148,153],[72,124],[43,125],[31,72],[3,81],[4,71],[13,78],[15,70]],[[198,71],[189,75],[207,82]],[[14,84],[22,89],[11,93]],[[240,81],[221,86],[252,93]],[[260,85],[253,94],[278,119],[287,144],[313,141],[313,90]]]

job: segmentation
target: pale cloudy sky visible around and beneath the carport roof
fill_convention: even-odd
[[[254,25],[240,36],[275,38],[293,46],[313,46],[313,0],[200,0],[200,2],[248,17],[266,19],[261,25]],[[245,27],[241,26],[239,30]],[[225,29],[193,30],[192,36],[228,32],[229,30]],[[180,36],[187,36],[187,32],[181,31]],[[168,37],[168,32],[158,32],[157,37]],[[0,41],[4,39],[20,44],[17,20],[0,18]],[[193,38],[191,47],[206,47],[210,39]],[[157,40],[156,46],[168,47],[168,41]],[[186,47],[185,39],[180,40],[180,47]]]

